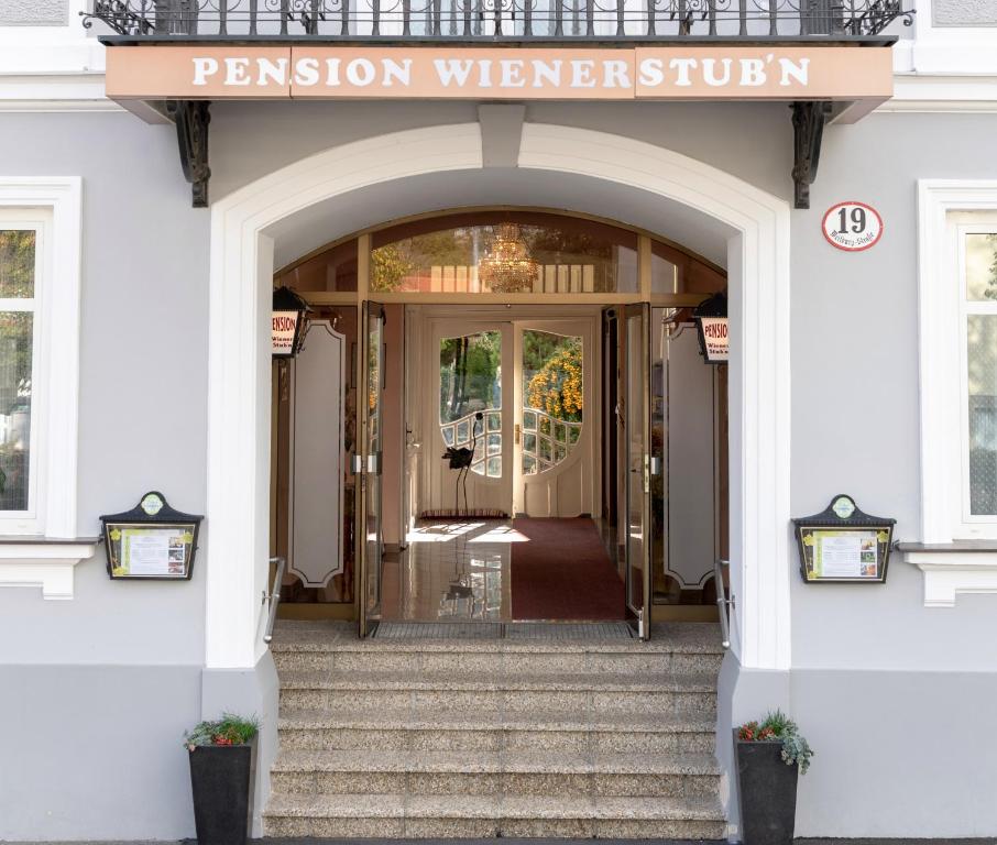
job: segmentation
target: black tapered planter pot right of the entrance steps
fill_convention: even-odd
[[[792,845],[798,768],[782,761],[782,743],[745,742],[734,731],[737,803],[744,845]]]

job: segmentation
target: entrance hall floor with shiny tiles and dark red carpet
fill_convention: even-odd
[[[623,589],[591,519],[425,520],[385,556],[381,618],[623,618]]]

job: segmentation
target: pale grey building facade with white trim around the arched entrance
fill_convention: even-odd
[[[724,278],[714,457],[727,492],[713,518],[734,599],[716,687],[726,834],[738,837],[731,727],[781,707],[817,750],[797,835],[997,836],[991,3],[924,0],[848,33],[747,12],[744,33],[712,3],[673,31],[664,9],[590,7],[590,24],[555,6],[535,24],[560,29],[535,37],[511,10],[469,12],[464,31],[454,7],[434,31],[431,14],[372,7],[342,41],[324,29],[336,10],[313,23],[275,13],[250,33],[238,3],[228,32],[217,3],[199,17],[139,6],[0,9],[0,839],[191,836],[180,738],[222,711],[261,718],[266,805],[278,679],[261,594],[284,551],[271,296],[354,240],[361,281],[306,298],[357,309],[357,334],[371,300],[536,320],[530,308],[563,294],[572,318],[587,303],[645,303],[654,319],[704,298],[656,288],[657,254]],[[649,20],[655,37],[634,29]],[[773,37],[769,23],[798,29]],[[768,54],[779,70],[756,86]],[[468,88],[432,77],[432,58],[458,76],[476,62]],[[825,87],[795,88],[807,74]],[[837,207],[875,213],[866,249],[831,242]],[[574,288],[569,274],[567,288],[472,303],[470,283],[448,289],[440,274],[419,299],[376,287],[366,266],[388,226],[555,212],[633,235],[633,289],[599,297],[580,271]],[[189,580],[109,578],[99,517],[151,490],[205,515]],[[841,493],[896,519],[884,583],[800,575],[792,519]],[[358,562],[340,618],[364,624],[370,578]],[[666,617],[651,575],[645,589],[645,618]]]

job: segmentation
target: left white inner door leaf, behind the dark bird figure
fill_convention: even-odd
[[[508,514],[513,484],[513,325],[434,320],[424,351],[424,513]],[[449,456],[453,456],[451,460]],[[461,461],[461,458],[464,461]],[[461,470],[458,465],[470,460]]]

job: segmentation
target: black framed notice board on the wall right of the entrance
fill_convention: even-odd
[[[842,494],[820,514],[792,522],[806,583],[886,582],[896,519],[865,514]]]

